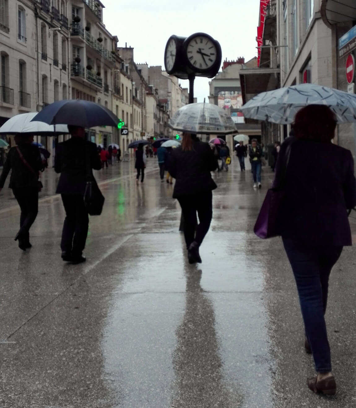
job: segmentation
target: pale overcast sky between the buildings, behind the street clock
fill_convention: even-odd
[[[259,0],[102,0],[104,24],[119,38],[119,47],[134,48],[137,64],[162,65],[170,35],[188,37],[196,32],[218,40],[222,60],[245,61],[257,55]],[[194,96],[208,102],[208,78],[196,78]],[[184,88],[188,81],[180,80]]]

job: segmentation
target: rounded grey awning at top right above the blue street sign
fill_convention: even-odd
[[[356,20],[355,0],[321,0],[321,18],[331,27],[332,24]]]

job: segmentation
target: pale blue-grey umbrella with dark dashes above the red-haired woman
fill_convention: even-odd
[[[294,121],[307,105],[327,105],[338,123],[356,122],[356,95],[314,84],[299,84],[259,93],[241,107],[245,118],[278,124]]]

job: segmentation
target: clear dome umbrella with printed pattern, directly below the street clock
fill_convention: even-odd
[[[181,132],[206,135],[237,133],[228,111],[210,103],[191,103],[182,106],[170,119],[168,126]]]

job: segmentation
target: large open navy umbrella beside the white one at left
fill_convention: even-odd
[[[42,109],[32,121],[50,125],[56,123],[83,126],[117,126],[119,118],[113,112],[95,102],[83,100],[62,100]],[[32,122],[31,121],[31,122]]]

